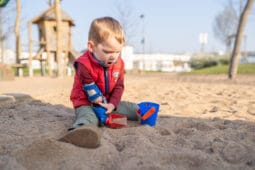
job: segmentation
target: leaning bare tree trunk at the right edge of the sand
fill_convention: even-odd
[[[228,78],[229,79],[234,79],[237,74],[237,69],[238,69],[238,64],[239,64],[239,59],[240,59],[240,50],[241,50],[241,42],[243,38],[243,32],[245,28],[245,24],[247,22],[249,13],[252,9],[254,0],[248,0],[245,8],[240,16],[239,19],[239,24],[238,24],[238,29],[237,29],[237,34],[236,34],[236,39],[235,39],[235,45],[234,49],[231,55],[230,59],[230,65],[229,65],[229,70],[228,70]]]

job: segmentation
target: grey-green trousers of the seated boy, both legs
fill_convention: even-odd
[[[117,109],[113,112],[127,116],[128,120],[138,120],[137,112],[138,105],[136,103],[121,101]],[[91,106],[80,106],[75,109],[75,121],[69,130],[73,130],[82,125],[99,125],[99,120],[96,117]]]

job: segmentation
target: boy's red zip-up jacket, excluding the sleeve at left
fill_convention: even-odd
[[[115,64],[105,68],[99,64],[89,51],[86,51],[75,62],[79,62],[88,69],[107,101],[117,107],[124,91],[124,62],[121,57],[118,57]],[[75,73],[70,96],[75,108],[81,105],[91,105],[82,86],[80,77]]]

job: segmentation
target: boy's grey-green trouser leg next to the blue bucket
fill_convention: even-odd
[[[121,101],[114,113],[119,113],[127,116],[128,120],[138,120],[136,114],[139,109],[136,103]]]

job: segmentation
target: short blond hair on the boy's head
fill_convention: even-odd
[[[124,31],[120,23],[112,17],[95,19],[89,29],[89,41],[95,44],[102,43],[113,36],[120,44],[125,43]]]

